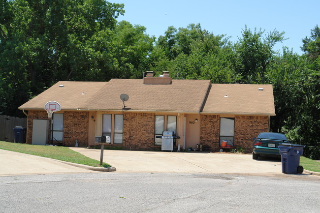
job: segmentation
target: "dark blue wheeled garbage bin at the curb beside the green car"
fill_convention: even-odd
[[[300,156],[303,154],[303,148],[305,146],[282,143],[278,147],[281,154],[282,173],[301,174],[303,172],[303,167],[299,166],[299,163]]]

